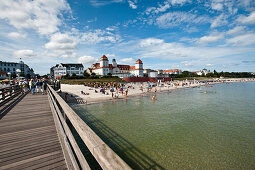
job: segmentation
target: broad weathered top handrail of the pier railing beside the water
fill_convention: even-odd
[[[55,90],[53,90],[50,85],[48,85],[48,89],[51,98],[56,103],[56,105],[55,103],[54,105],[57,106],[58,103],[58,106],[61,107],[61,109],[58,108],[58,110],[63,110],[65,114],[64,117],[66,116],[68,118],[82,141],[103,169],[131,169],[126,162],[124,162],[106,143],[104,143],[99,136],[96,135],[96,133],[73,111],[73,109],[55,92]],[[62,121],[64,121],[64,118],[61,118],[61,122]],[[70,137],[70,134],[67,136]],[[75,150],[77,147],[73,146],[73,149]],[[82,164],[81,161],[79,163]]]

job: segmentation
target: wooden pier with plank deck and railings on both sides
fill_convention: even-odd
[[[47,95],[26,95],[12,87],[1,91],[1,170],[90,170],[71,129],[76,130],[102,169],[131,169],[50,85]]]

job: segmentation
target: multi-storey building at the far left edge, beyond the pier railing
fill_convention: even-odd
[[[24,76],[28,75],[30,75],[31,77],[35,76],[34,70],[32,68],[29,68],[29,66],[25,64],[23,61],[20,61],[19,63],[0,61],[1,71],[11,74],[17,74],[18,69],[21,71],[20,74],[23,74]]]

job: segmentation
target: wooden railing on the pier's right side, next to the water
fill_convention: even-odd
[[[54,120],[57,126],[59,126],[58,132],[60,138],[62,138],[65,143],[65,148],[67,148],[66,152],[70,156],[70,164],[73,164],[74,169],[79,169],[79,165],[82,169],[90,169],[90,167],[80,151],[67,121],[70,122],[71,126],[76,130],[102,169],[131,169],[99,136],[96,135],[50,85],[48,85],[48,94]]]

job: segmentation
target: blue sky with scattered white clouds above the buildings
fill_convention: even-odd
[[[255,72],[254,0],[8,0],[0,60],[36,73],[103,55],[144,68]]]

